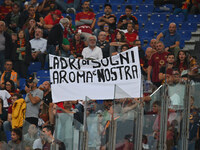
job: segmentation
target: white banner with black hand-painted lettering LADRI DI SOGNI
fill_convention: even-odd
[[[115,85],[130,97],[141,97],[138,48],[101,60],[69,59],[49,55],[53,102],[114,99]],[[118,97],[119,98],[119,97]]]

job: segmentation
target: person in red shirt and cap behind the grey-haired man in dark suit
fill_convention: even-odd
[[[59,23],[59,20],[63,18],[62,13],[60,10],[52,11],[49,15],[44,18],[44,25],[43,27],[47,30],[51,30],[53,26]]]

